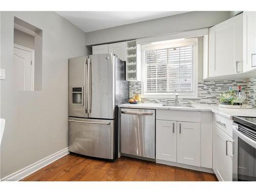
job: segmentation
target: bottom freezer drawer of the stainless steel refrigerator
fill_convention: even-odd
[[[69,118],[69,151],[114,159],[114,120]]]

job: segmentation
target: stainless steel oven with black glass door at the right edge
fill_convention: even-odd
[[[256,181],[256,117],[233,121],[233,181]]]

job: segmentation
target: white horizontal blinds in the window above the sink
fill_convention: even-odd
[[[145,92],[193,92],[193,46],[145,51]]]

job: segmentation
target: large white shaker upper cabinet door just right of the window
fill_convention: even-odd
[[[209,30],[209,76],[243,72],[243,15]]]

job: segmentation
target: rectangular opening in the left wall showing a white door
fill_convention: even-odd
[[[42,30],[14,17],[14,87],[17,91],[42,90]]]

